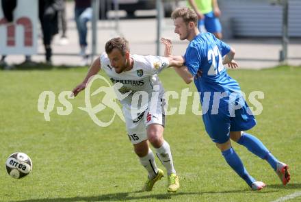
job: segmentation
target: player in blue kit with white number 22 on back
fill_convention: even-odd
[[[233,140],[266,160],[286,185],[290,180],[287,164],[278,161],[261,140],[244,132],[254,127],[256,121],[241,95],[239,84],[224,68],[224,64],[228,64],[231,68],[238,66],[233,60],[235,50],[211,33],[200,34],[197,27],[198,16],[189,8],[174,10],[172,19],[174,32],[179,34],[180,40],[189,40],[184,55],[185,66],[192,74],[191,77],[194,77],[194,84],[200,92],[205,129],[228,165],[252,190],[261,190],[265,187],[263,182],[257,181],[246,171],[231,146]],[[163,39],[163,42],[166,47],[171,47],[170,41]]]

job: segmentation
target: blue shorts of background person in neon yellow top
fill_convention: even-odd
[[[221,33],[222,25],[220,25],[220,20],[214,16],[213,11],[205,15],[205,19],[198,21],[198,29],[201,31],[201,27],[205,26],[205,29],[210,33]]]

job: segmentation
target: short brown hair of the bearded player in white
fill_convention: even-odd
[[[105,43],[105,53],[109,54],[113,49],[118,49],[122,55],[129,51],[129,42],[123,37],[112,38]]]

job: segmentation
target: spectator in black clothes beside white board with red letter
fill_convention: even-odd
[[[58,12],[63,9],[63,0],[39,0],[39,18],[43,33],[46,62],[51,64],[51,41],[58,33]]]

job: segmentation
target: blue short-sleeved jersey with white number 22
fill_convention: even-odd
[[[226,105],[232,99],[233,92],[240,96],[239,84],[232,79],[222,64],[222,57],[230,51],[231,47],[209,32],[198,34],[188,45],[184,55],[185,65],[193,76],[200,70],[202,76],[194,79],[194,84],[200,92],[200,102],[203,103],[205,92],[209,94],[209,105],[213,103],[214,92],[220,92],[219,105]],[[222,94],[223,93],[223,94]],[[219,94],[219,93],[217,93]],[[225,96],[225,94],[227,96]],[[236,99],[235,98],[235,99]],[[215,98],[216,99],[216,98]]]

